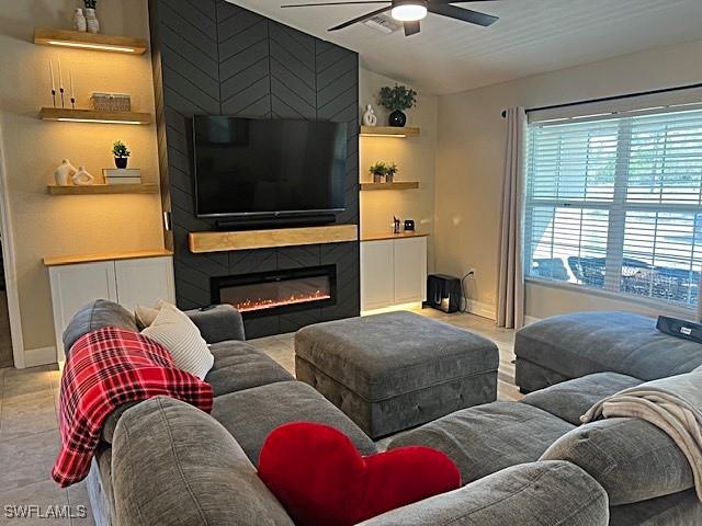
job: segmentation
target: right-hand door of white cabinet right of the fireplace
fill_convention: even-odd
[[[427,238],[395,240],[395,302],[427,299]]]

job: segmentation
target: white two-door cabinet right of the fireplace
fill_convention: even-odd
[[[426,237],[361,243],[361,310],[426,299]]]

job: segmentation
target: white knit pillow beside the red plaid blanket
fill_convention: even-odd
[[[179,369],[205,378],[215,357],[188,315],[163,301],[161,310],[141,334],[163,345],[172,355]]]

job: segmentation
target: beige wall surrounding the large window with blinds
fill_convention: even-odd
[[[476,270],[471,297],[482,311],[497,301],[499,218],[506,122],[510,106],[543,106],[702,81],[702,41],[616,57],[439,98],[434,248],[437,272]],[[652,313],[646,307],[556,289],[526,287],[526,315],[585,309]]]

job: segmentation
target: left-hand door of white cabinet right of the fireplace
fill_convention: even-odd
[[[393,241],[361,243],[361,310],[393,305]]]

